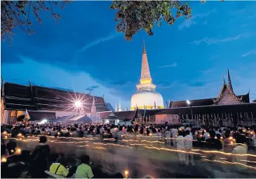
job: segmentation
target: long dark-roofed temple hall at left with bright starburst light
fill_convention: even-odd
[[[27,119],[40,122],[102,122],[100,113],[109,111],[103,97],[56,90],[29,83],[1,83],[1,124]]]

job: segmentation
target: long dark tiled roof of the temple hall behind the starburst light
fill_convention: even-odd
[[[79,92],[56,90],[48,87],[3,84],[3,99],[6,109],[10,110],[67,110],[74,109],[74,101],[83,101],[83,110],[90,112],[93,96]],[[97,112],[107,111],[102,97],[94,96]]]

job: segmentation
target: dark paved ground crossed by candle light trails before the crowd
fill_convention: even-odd
[[[36,144],[37,141],[19,143],[23,150],[33,150]],[[124,143],[126,146],[121,146],[110,141],[84,140],[84,143],[83,141],[79,143],[49,141],[48,144],[52,152],[73,154],[76,157],[90,155],[93,162],[97,164],[93,167],[95,178],[112,177],[112,174],[123,173],[126,169],[130,172],[131,178],[143,178],[144,176],[154,178],[255,178],[256,176],[256,170],[249,170],[247,173],[238,175],[237,172],[232,171],[233,165],[231,164],[203,162],[202,159],[206,159],[206,155],[205,157],[194,155],[195,166],[180,166],[177,152],[148,149],[144,148],[144,145],[135,148],[133,143]],[[165,145],[154,144],[152,146]]]

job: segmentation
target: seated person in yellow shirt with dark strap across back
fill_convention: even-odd
[[[53,157],[55,162],[53,162],[53,164],[50,166],[50,173],[66,177],[69,171],[65,168],[65,166],[59,163],[60,155],[55,154]]]

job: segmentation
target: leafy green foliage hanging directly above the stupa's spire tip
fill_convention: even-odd
[[[125,34],[130,41],[140,29],[152,36],[155,25],[163,21],[174,24],[179,17],[191,17],[191,8],[182,1],[113,1],[110,6],[116,10],[116,30]]]

